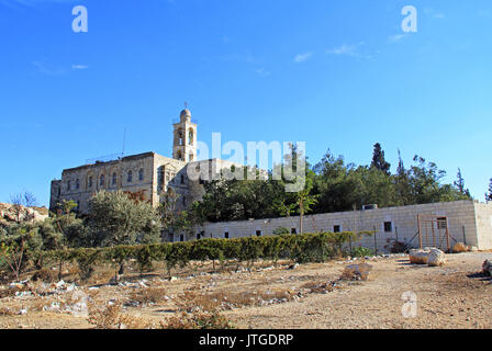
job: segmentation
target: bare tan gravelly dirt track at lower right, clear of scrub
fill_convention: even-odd
[[[448,254],[443,268],[407,259],[371,262],[370,279],[360,285],[227,316],[243,328],[492,328],[492,284],[474,274],[485,258],[492,253]],[[407,291],[417,297],[414,318],[402,316]]]

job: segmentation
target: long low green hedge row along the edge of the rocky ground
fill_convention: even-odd
[[[66,264],[77,262],[80,278],[87,279],[96,264],[112,263],[115,268],[135,260],[141,268],[153,262],[164,262],[170,270],[186,267],[191,261],[234,260],[251,265],[258,260],[279,258],[297,262],[324,262],[347,254],[346,244],[359,235],[350,231],[271,237],[245,237],[236,239],[202,239],[157,245],[114,246],[105,248],[66,248],[52,251],[33,251],[31,257],[43,254],[45,262]],[[25,261],[27,262],[27,260]]]

